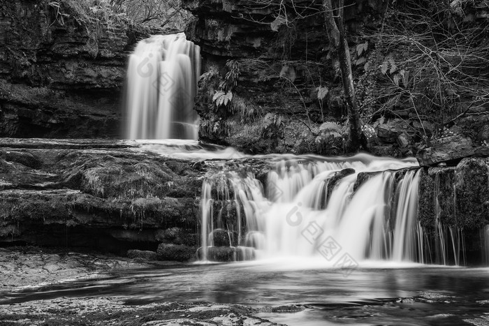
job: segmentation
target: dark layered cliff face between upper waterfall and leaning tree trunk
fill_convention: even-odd
[[[346,114],[340,79],[327,57],[321,1],[293,1],[295,17],[277,15],[274,5],[261,1],[183,2],[197,17],[187,37],[202,47],[205,59],[197,105],[201,139],[249,152],[344,153],[345,128],[321,128],[322,121],[339,121]],[[284,6],[290,13],[292,3]],[[383,6],[382,1],[348,3],[352,47],[360,40],[358,32],[377,26]],[[219,88],[217,75],[228,73],[227,59],[239,67],[233,108],[213,111],[209,105]],[[317,87],[330,89],[321,101]]]

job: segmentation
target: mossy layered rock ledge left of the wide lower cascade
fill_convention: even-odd
[[[0,139],[0,242],[125,254],[120,242],[156,246],[156,230],[180,228],[181,244],[195,245],[205,171],[136,149],[118,140]]]

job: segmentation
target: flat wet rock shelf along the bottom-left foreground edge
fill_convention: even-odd
[[[61,297],[31,300],[0,306],[2,320],[9,324],[41,325],[261,325],[273,326],[254,316],[261,312],[251,306],[210,302],[159,302],[125,304],[124,297]],[[278,310],[277,310],[278,311]],[[282,324],[281,324],[282,325]]]

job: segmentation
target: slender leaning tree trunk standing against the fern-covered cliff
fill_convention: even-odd
[[[350,49],[344,33],[343,7],[344,0],[340,0],[336,23],[331,0],[323,0],[324,21],[330,43],[331,60],[333,68],[336,68],[335,63],[337,63],[342,74],[343,90],[350,122],[350,146],[353,151],[356,151],[362,147],[367,149],[367,147],[362,133],[358,105],[356,104],[355,86],[353,85],[353,74],[351,73]]]

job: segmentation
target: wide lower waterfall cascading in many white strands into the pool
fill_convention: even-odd
[[[201,260],[224,250],[228,260],[240,260],[246,249],[258,259],[309,257],[331,265],[425,262],[414,160],[363,154],[272,164],[265,184],[247,167],[223,166],[205,179]],[[212,242],[219,232],[230,237],[226,249]]]

